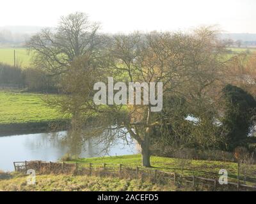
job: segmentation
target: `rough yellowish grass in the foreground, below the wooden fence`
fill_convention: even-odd
[[[142,180],[74,175],[36,175],[36,184],[27,184],[27,175],[0,179],[0,191],[175,191],[174,185],[161,186]]]

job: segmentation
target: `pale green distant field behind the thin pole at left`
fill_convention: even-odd
[[[14,48],[0,48],[0,62],[13,65],[13,50]],[[15,48],[15,55],[17,64],[23,67],[29,66],[31,56],[28,55],[26,48]]]

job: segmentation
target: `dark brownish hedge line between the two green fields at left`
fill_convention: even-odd
[[[0,63],[0,87],[22,88],[28,91],[57,91],[54,80],[44,71],[35,68],[22,69],[3,63]]]

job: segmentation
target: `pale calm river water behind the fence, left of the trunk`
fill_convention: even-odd
[[[13,171],[13,161],[58,161],[69,149],[63,138],[66,131],[58,133],[39,133],[29,135],[1,136],[0,137],[0,170]],[[137,154],[135,143],[125,143],[117,139],[115,143],[102,152],[104,146],[95,141],[84,142],[79,157],[121,156]]]

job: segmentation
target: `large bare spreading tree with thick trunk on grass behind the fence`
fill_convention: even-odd
[[[113,135],[123,138],[131,136],[141,147],[143,166],[149,167],[150,138],[154,127],[172,122],[172,113],[163,118],[161,112],[151,111],[154,105],[150,103],[96,105],[93,101],[93,82],[107,84],[107,77],[114,77],[116,82],[122,81],[126,84],[162,82],[164,96],[183,96],[193,107],[191,110],[196,117],[202,116],[198,111],[202,110],[204,120],[200,121],[204,125],[205,118],[209,116],[207,107],[212,108],[214,105],[214,86],[218,85],[221,71],[231,60],[227,60],[223,54],[225,46],[216,39],[214,31],[205,28],[189,34],[153,32],[116,35],[104,55],[104,60],[99,61],[88,55],[69,66],[62,82],[66,99],[56,98],[51,103],[60,106],[63,112],[72,113],[74,124],[79,126],[81,121],[86,123],[86,119],[90,118],[87,120],[88,124],[93,121],[97,127],[87,128],[97,133],[109,133],[108,138],[105,135],[106,142],[111,142]],[[207,127],[202,129],[205,130]],[[209,140],[202,136],[204,133],[198,135],[200,142],[214,142],[214,137]],[[191,139],[187,135],[184,137]]]

